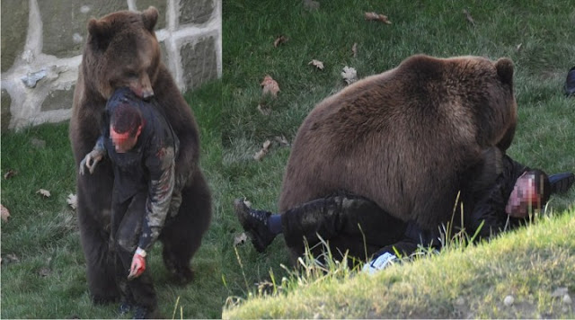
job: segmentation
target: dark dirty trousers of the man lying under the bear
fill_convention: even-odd
[[[408,226],[375,202],[345,192],[289,209],[282,213],[281,222],[286,244],[299,255],[305,242],[312,248],[323,239],[332,254],[348,252],[359,259],[400,241]]]

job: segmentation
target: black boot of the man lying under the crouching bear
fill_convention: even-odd
[[[268,227],[271,212],[250,209],[241,199],[234,200],[234,211],[243,230],[250,234],[255,250],[262,253],[276,237]]]

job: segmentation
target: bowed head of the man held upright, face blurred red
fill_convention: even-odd
[[[110,138],[116,152],[125,153],[136,146],[142,125],[142,113],[137,106],[119,103],[112,111],[110,120]]]

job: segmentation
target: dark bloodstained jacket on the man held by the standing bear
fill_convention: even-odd
[[[116,152],[110,138],[110,119],[121,103],[137,105],[144,120],[137,144],[126,153]],[[149,250],[164,227],[174,186],[174,162],[179,140],[154,101],[144,102],[128,88],[120,88],[106,104],[102,136],[96,147],[105,148],[114,171],[114,192],[123,202],[140,191],[148,192],[146,215],[138,247]]]

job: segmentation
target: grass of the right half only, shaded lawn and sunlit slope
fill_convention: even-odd
[[[472,15],[474,25],[465,20],[464,9]],[[365,12],[384,13],[393,24],[367,22]],[[334,0],[320,1],[316,11],[306,10],[299,1],[232,0],[224,2],[223,23],[223,172],[229,178],[230,189],[229,193],[223,194],[222,221],[232,235],[242,232],[233,214],[234,198],[244,197],[257,209],[277,210],[289,147],[280,146],[276,137],[284,136],[293,141],[297,128],[314,105],[345,86],[340,76],[345,66],[355,67],[361,78],[395,67],[404,58],[417,53],[437,57],[509,57],[515,63],[519,106],[519,122],[509,156],[548,173],[575,171],[575,102],[562,95],[562,85],[567,71],[573,66],[572,52],[575,52],[575,30],[572,28],[575,9],[567,0],[544,3],[535,0],[465,3]],[[274,48],[273,41],[280,35],[287,37],[288,42]],[[354,43],[358,48],[356,57],[351,52]],[[323,61],[325,68],[317,70],[308,66],[312,59]],[[260,83],[266,75],[278,81],[281,90],[278,99],[261,97]],[[262,115],[257,110],[258,105],[269,108],[270,115]],[[252,156],[267,139],[272,141],[270,152],[261,162],[254,161]],[[536,236],[530,244],[536,250],[518,245],[517,250],[509,253],[506,241],[518,240],[502,236],[469,253],[441,253],[429,262],[425,259],[390,271],[392,275],[385,271],[377,280],[361,282],[364,278],[360,276],[354,280],[323,281],[305,289],[296,289],[300,280],[290,278],[291,267],[282,268],[290,263],[281,236],[263,254],[255,252],[251,244],[238,246],[235,250],[228,244],[222,248],[228,301],[241,302],[237,306],[228,304],[224,316],[544,316],[550,304],[556,303],[548,297],[550,286],[568,286],[571,297],[575,296],[573,269],[561,269],[572,264],[574,246],[568,238],[574,230],[570,222],[574,217],[574,206],[575,190],[552,198],[550,211],[558,214],[549,218],[544,227],[556,236],[551,240]],[[535,233],[534,230],[527,227],[519,233]],[[514,236],[510,235],[509,239]],[[546,248],[544,244],[551,247]],[[482,260],[484,266],[482,269],[467,268],[470,264],[466,262],[470,259],[467,255],[479,254],[475,253],[478,251],[486,256]],[[535,268],[541,271],[539,275],[531,271],[507,272],[513,267],[526,269],[525,265],[532,262],[526,260],[530,254],[535,254],[538,258],[534,261],[541,262],[542,266],[553,268],[550,271]],[[509,269],[501,264],[507,260]],[[439,261],[442,262],[438,267],[433,267]],[[424,267],[418,267],[420,264]],[[449,268],[442,271],[441,268],[447,266]],[[437,274],[438,278],[417,275],[429,268],[430,274]],[[481,280],[489,272],[498,275]],[[561,272],[564,274],[558,276]],[[519,276],[521,278],[517,278]],[[395,280],[379,281],[388,277]],[[416,287],[413,282],[401,281],[406,277],[417,280],[417,291],[426,294],[421,297],[410,294]],[[288,282],[282,282],[282,278]],[[261,288],[274,280],[276,286],[272,288],[284,288],[279,290],[279,297],[270,298],[270,292],[266,290],[265,295],[260,295]],[[530,306],[535,307],[511,314],[500,308],[504,297],[500,295],[506,288],[517,287],[519,280],[525,280],[526,287],[517,291],[522,298],[517,296],[516,301],[528,299]],[[396,285],[390,287],[392,282]],[[462,284],[452,286],[454,282]],[[361,286],[367,286],[367,283],[370,289],[362,289]],[[543,288],[539,289],[541,286]],[[526,292],[528,294],[524,295]],[[465,302],[468,310],[462,311],[467,313],[455,313],[453,301],[445,295],[462,296],[469,301],[469,304]],[[369,300],[367,296],[376,298]],[[427,304],[416,307],[415,302],[425,299],[429,300]],[[518,304],[524,302],[517,301]],[[410,314],[409,310],[415,311]],[[572,309],[563,312],[557,305],[553,307],[553,316],[572,317]]]

